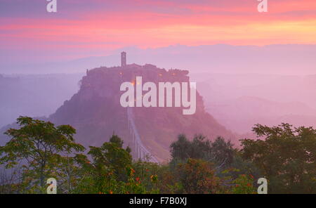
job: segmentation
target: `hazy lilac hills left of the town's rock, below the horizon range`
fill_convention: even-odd
[[[79,89],[83,74],[0,74],[0,128],[20,115],[48,116]]]

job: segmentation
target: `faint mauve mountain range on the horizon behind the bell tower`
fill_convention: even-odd
[[[3,65],[0,73],[77,73],[119,63],[119,51],[129,54],[128,63],[152,63],[161,67],[185,68],[191,73],[312,74],[316,65],[316,45],[284,44],[268,46],[174,45],[161,48],[120,48],[107,56],[83,57],[51,63]]]

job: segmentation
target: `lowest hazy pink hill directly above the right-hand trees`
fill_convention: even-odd
[[[238,134],[249,133],[254,124],[273,126],[283,122],[316,127],[316,110],[300,102],[278,103],[244,96],[217,104],[209,103],[206,110]]]

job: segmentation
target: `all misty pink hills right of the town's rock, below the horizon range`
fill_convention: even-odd
[[[191,74],[207,112],[220,124],[246,134],[256,123],[316,128],[316,75]]]

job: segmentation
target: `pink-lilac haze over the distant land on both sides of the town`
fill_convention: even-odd
[[[235,134],[248,134],[256,123],[316,125],[315,45],[124,49],[129,51],[129,63],[189,70],[206,111]],[[119,64],[119,53],[114,52],[105,57],[1,68],[6,73],[0,77],[0,126],[11,124],[19,115],[53,114],[77,93],[87,68]]]

